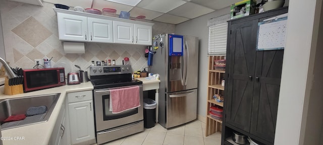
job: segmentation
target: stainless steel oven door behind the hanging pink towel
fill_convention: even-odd
[[[118,127],[128,123],[143,120],[143,92],[142,85],[139,85],[140,107],[113,114],[109,111],[110,90],[122,89],[134,86],[124,86],[116,88],[94,90],[94,108],[96,131],[102,131],[113,127]]]

